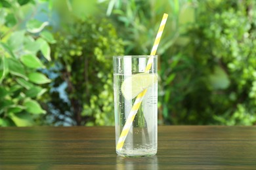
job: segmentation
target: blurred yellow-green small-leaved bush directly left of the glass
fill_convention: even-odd
[[[54,62],[60,65],[54,87],[67,83],[68,101],[58,101],[51,93],[52,110],[72,112],[77,125],[114,125],[112,56],[123,54],[123,42],[106,19],[75,20],[54,37]],[[51,110],[49,110],[51,112]]]

